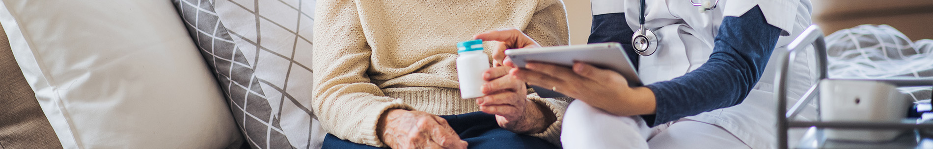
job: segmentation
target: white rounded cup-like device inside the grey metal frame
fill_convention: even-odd
[[[823,121],[900,122],[911,105],[897,86],[882,81],[823,80],[819,82]],[[904,130],[826,129],[829,140],[881,143],[893,140]]]

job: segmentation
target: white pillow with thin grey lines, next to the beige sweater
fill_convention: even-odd
[[[288,143],[295,148],[321,148],[327,132],[314,118],[310,105],[315,1],[214,3],[221,23],[255,68],[254,76],[270,101],[272,113],[279,118]]]

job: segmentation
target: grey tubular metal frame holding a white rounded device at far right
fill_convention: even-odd
[[[898,135],[902,130],[933,129],[933,123],[904,118],[907,115],[904,98],[892,93],[898,93],[894,87],[929,86],[933,79],[830,79],[827,44],[822,32],[812,25],[787,45],[787,52],[775,50],[775,56],[781,57],[776,63],[774,80],[778,148],[928,148],[928,136],[915,131]],[[788,74],[793,66],[790,64],[811,44],[817,62],[815,77],[819,81],[787,108]],[[795,119],[804,108],[811,107],[810,103],[815,103],[815,119]],[[788,144],[789,129],[806,129],[796,146]],[[890,140],[891,136],[895,136],[893,141],[866,143]]]

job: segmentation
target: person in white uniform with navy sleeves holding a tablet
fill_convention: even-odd
[[[564,148],[776,147],[774,72],[766,66],[811,24],[809,0],[591,2],[588,43],[622,43],[646,86],[584,63],[514,68],[504,51],[535,41],[517,30],[474,36],[501,42],[494,61],[513,67],[490,69],[487,78],[515,77],[576,99],[563,118]],[[651,34],[639,30],[656,41],[639,39]]]

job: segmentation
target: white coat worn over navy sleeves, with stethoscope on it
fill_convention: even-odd
[[[751,148],[774,148],[778,116],[772,85],[776,68],[774,62],[777,61],[774,56],[786,52],[786,48],[781,46],[790,43],[811,24],[810,1],[720,0],[716,9],[703,13],[699,6],[690,5],[689,0],[647,0],[647,3],[645,27],[655,31],[660,43],[654,55],[639,58],[638,76],[645,84],[669,81],[700,68],[713,52],[714,40],[724,17],[738,17],[759,6],[767,22],[782,30],[778,48],[774,50],[765,73],[742,104],[688,117],[717,125]],[[592,0],[593,15],[624,12],[633,31],[639,29],[638,11],[639,0]]]

